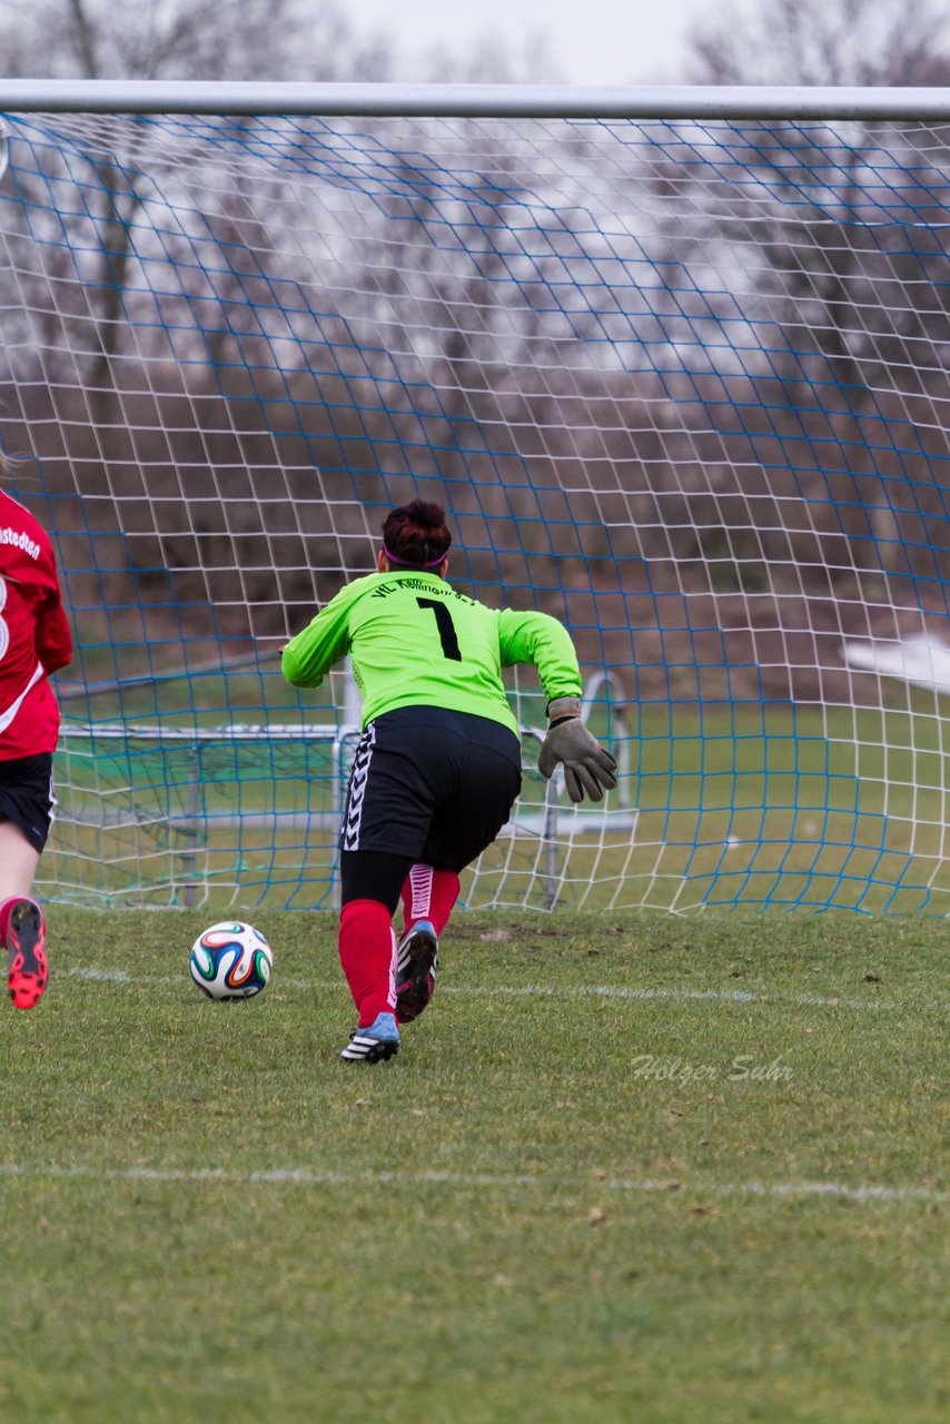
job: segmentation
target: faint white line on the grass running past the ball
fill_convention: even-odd
[[[110,984],[187,984],[188,974],[128,974],[125,970],[101,970],[94,965],[75,965],[61,970],[66,978],[101,980]],[[275,974],[273,984],[279,988],[318,990],[332,993],[345,988],[343,980],[310,980],[298,975],[286,978]],[[672,998],[708,1000],[719,1004],[796,1004],[805,1008],[897,1008],[899,1000],[886,998],[840,998],[826,994],[753,994],[743,988],[634,988],[625,984],[578,984],[574,988],[555,988],[548,984],[443,984],[440,994],[461,994],[467,998]]]

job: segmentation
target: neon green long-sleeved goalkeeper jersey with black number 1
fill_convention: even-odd
[[[580,696],[567,629],[550,614],[489,608],[439,574],[369,574],[342,588],[283,649],[283,676],[316,688],[346,654],[363,726],[396,708],[437,706],[491,718],[517,733],[501,669],[530,662],[548,699]]]

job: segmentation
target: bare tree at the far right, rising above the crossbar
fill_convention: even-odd
[[[949,19],[940,0],[765,0],[756,11],[732,7],[695,34],[688,78],[943,85],[950,80]],[[907,551],[922,543],[922,520],[944,517],[929,473],[929,436],[916,427],[946,382],[946,255],[927,222],[927,214],[946,209],[946,144],[927,141],[912,125],[746,128],[738,140],[725,135],[719,157],[719,178],[736,184],[729,212],[709,188],[702,195],[704,179],[688,165],[672,164],[662,174],[688,204],[705,208],[704,244],[742,253],[743,273],[758,273],[743,300],[773,323],[768,369],[753,382],[771,419],[756,431],[751,403],[743,436],[752,449],[785,440],[818,451],[813,474],[798,474],[812,508],[825,511],[826,548],[816,572],[828,567],[840,582],[853,570],[860,581],[870,580],[869,591],[876,571],[890,578],[893,591],[902,572],[913,572],[913,558],[930,558]],[[907,222],[920,229],[910,244]],[[721,305],[725,310],[728,295]],[[830,490],[830,500],[822,488]],[[840,534],[847,553],[830,555],[828,541]],[[815,575],[813,588],[819,591]]]

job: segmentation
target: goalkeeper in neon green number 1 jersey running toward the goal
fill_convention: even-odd
[[[439,504],[413,500],[383,524],[377,572],[336,594],[283,649],[283,676],[316,688],[348,654],[363,696],[340,830],[340,963],[359,1022],[343,1062],[399,1051],[434,990],[439,936],[459,871],[490,846],[521,789],[518,728],[501,669],[534,664],[547,696],[538,766],[561,765],[571,800],[601,800],[617,763],[581,722],[581,676],[548,614],[456,592]],[[403,900],[399,944],[392,918]]]

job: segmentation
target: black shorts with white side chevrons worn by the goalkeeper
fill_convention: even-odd
[[[340,850],[463,870],[491,844],[521,790],[521,746],[490,718],[399,708],[363,732],[350,772]]]

